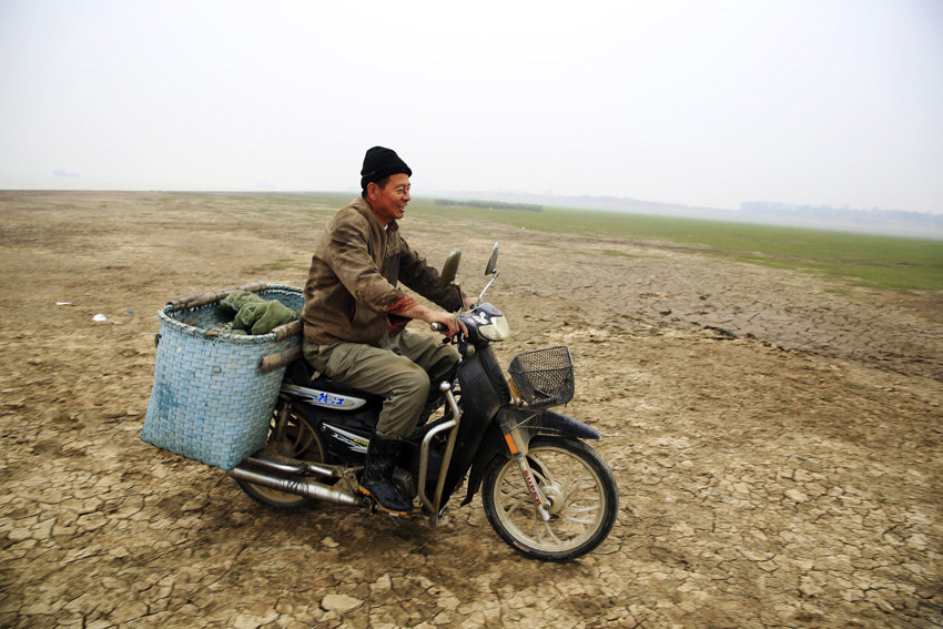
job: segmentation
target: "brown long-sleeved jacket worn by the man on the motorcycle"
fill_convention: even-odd
[[[334,215],[314,248],[304,287],[305,338],[379,346],[391,306],[405,296],[397,282],[446,311],[462,307],[458,288],[439,284],[438,272],[409,248],[396,221],[384,230],[358,196]]]

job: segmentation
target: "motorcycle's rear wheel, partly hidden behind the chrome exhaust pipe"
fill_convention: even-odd
[[[285,403],[280,402],[280,404]],[[327,460],[327,448],[324,447],[321,436],[308,420],[291,406],[288,406],[288,420],[285,425],[284,435],[276,444],[274,439],[277,414],[278,409],[276,408],[268,428],[268,445],[266,449],[272,449],[282,456],[311,463],[325,463]],[[256,485],[245,480],[236,480],[236,483],[239,483],[242,490],[249,494],[253,500],[280,511],[302,511],[317,503],[314,498],[306,498],[297,494],[286,494],[271,487],[265,487],[264,485]]]

